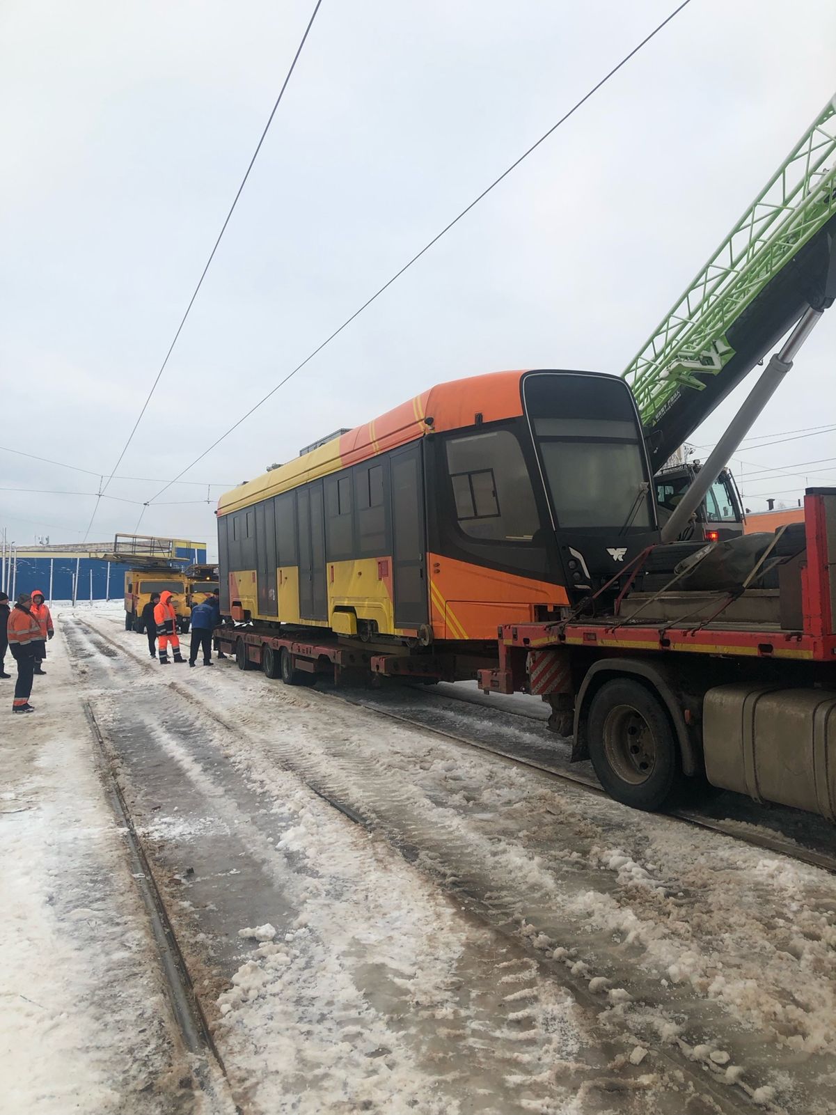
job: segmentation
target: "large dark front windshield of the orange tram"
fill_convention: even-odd
[[[651,527],[651,485],[630,388],[604,376],[544,371],[525,377],[523,397],[557,525]]]

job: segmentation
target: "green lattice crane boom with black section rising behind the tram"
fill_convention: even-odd
[[[836,97],[630,362],[658,467],[830,290]]]

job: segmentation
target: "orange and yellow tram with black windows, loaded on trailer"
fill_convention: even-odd
[[[504,371],[430,388],[225,493],[222,611],[364,641],[495,643],[655,539],[633,396]]]

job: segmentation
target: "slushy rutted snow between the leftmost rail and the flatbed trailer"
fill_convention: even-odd
[[[836,1111],[832,876],[77,614],[247,1115]]]

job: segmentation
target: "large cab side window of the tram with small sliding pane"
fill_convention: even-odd
[[[531,542],[539,525],[528,469],[506,429],[447,442],[459,530],[485,542]]]

